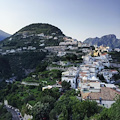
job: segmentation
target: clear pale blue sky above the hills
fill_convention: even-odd
[[[0,0],[0,29],[14,34],[48,23],[78,41],[115,34],[120,39],[120,0]]]

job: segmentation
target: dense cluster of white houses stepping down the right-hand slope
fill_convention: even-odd
[[[103,48],[103,49],[102,49]],[[117,70],[106,69],[110,67],[111,56],[103,46],[99,49],[100,54],[92,57],[90,54],[83,56],[83,63],[79,68],[70,67],[62,72],[62,81],[70,82],[71,87],[79,89],[82,99],[95,100],[105,107],[110,107],[115,102],[116,95],[120,95],[120,90],[114,85],[111,79]],[[103,75],[105,82],[102,82],[98,75]]]

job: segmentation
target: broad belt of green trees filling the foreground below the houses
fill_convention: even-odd
[[[44,91],[41,89],[41,85],[23,86],[17,82],[0,90],[0,101],[3,101],[3,98],[7,99],[8,103],[19,108],[22,114],[32,114],[33,120],[57,120],[58,118],[59,120],[120,119],[120,99],[107,109],[98,106],[95,101],[80,101],[73,89],[66,91],[61,97],[58,88]],[[27,103],[32,105],[31,109],[26,106]]]

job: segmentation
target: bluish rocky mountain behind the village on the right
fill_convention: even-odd
[[[110,48],[120,48],[120,39],[117,39],[114,34],[105,35],[101,38],[88,38],[83,43],[90,45],[104,45],[109,46]]]

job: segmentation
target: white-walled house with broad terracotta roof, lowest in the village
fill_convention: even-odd
[[[94,100],[98,104],[101,104],[107,108],[111,107],[113,103],[115,103],[116,97],[120,95],[120,92],[108,88],[108,87],[101,87],[100,92],[92,92],[88,93],[87,95],[83,94],[83,99]]]

